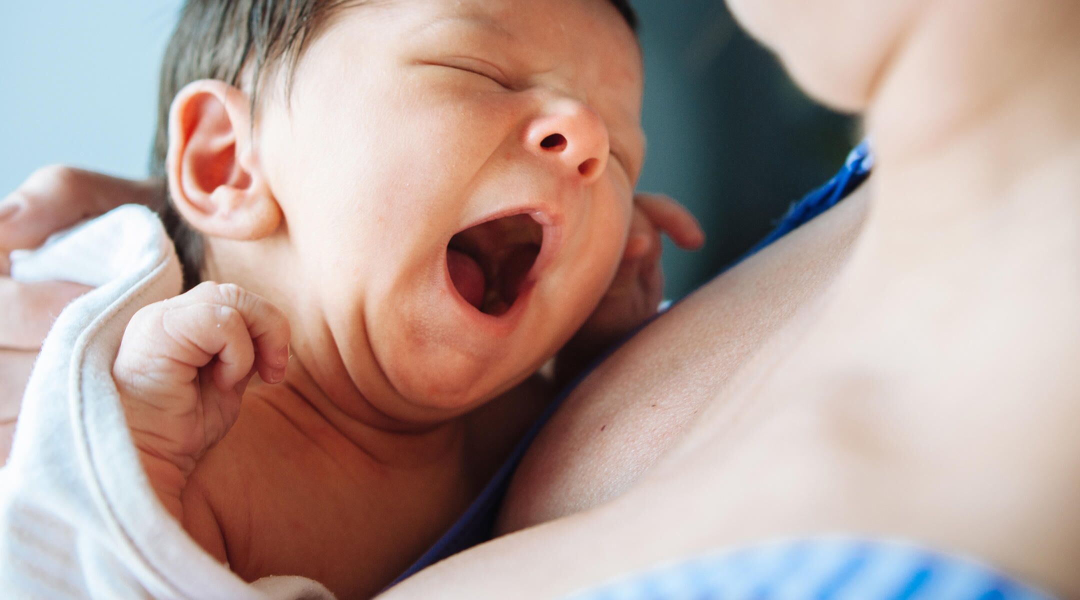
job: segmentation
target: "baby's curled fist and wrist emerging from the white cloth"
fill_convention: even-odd
[[[288,339],[281,310],[229,284],[201,284],[129,323],[112,378],[143,466],[177,519],[188,476],[235,423],[252,376],[284,379]]]

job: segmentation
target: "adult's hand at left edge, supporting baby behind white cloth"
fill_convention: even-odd
[[[158,180],[132,181],[48,166],[0,201],[0,464],[45,333],[60,310],[90,289],[69,282],[15,282],[10,277],[9,253],[36,248],[53,233],[122,204],[151,205],[159,189]]]

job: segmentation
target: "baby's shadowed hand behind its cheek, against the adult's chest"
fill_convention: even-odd
[[[665,195],[638,194],[634,199],[626,249],[615,281],[556,359],[556,373],[562,382],[657,314],[664,294],[664,276],[660,269],[661,232],[688,250],[696,250],[705,243],[701,226],[683,205]]]

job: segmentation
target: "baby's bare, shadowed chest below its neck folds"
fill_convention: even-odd
[[[292,369],[302,379],[295,373],[302,367]],[[375,432],[350,438],[298,386],[256,382],[229,436],[192,474],[184,526],[247,581],[291,573],[340,598],[370,596],[427,549],[482,485],[467,468],[464,433],[462,422],[441,425],[392,440],[399,452],[379,455],[364,446]]]

